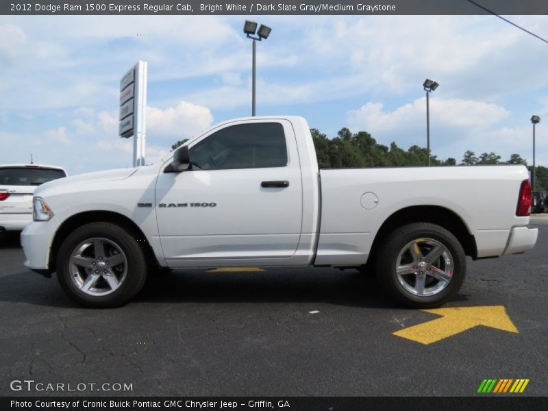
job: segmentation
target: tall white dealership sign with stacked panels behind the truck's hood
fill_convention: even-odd
[[[120,80],[119,135],[134,137],[134,166],[145,165],[147,62],[139,61]]]

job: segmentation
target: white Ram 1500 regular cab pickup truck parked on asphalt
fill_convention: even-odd
[[[122,305],[161,267],[335,266],[425,308],[456,295],[466,256],[534,247],[531,201],[525,166],[319,171],[306,120],[265,116],[38,187],[21,239],[25,265],[86,306]]]

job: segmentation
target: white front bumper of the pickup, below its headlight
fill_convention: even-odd
[[[33,221],[21,233],[25,252],[25,266],[40,274],[49,274],[49,251],[59,221],[53,216],[49,221]]]

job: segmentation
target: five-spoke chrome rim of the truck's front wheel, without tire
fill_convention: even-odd
[[[89,238],[71,253],[69,272],[75,286],[87,295],[108,295],[127,277],[127,258],[114,241]]]

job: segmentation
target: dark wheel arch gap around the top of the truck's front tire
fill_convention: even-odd
[[[59,251],[59,248],[61,247],[64,238],[66,238],[66,236],[68,236],[78,227],[81,227],[82,225],[88,223],[113,223],[124,227],[129,232],[132,232],[132,234],[134,234],[136,238],[138,238],[139,240],[143,240],[142,242],[139,242],[139,245],[142,251],[145,253],[147,261],[155,262],[155,264],[158,265],[158,259],[156,258],[154,251],[149,244],[147,237],[145,236],[145,233],[142,232],[142,230],[139,228],[138,225],[136,225],[136,223],[134,223],[134,221],[129,219],[127,216],[124,216],[123,214],[119,214],[117,212],[97,210],[74,214],[73,216],[69,217],[69,219],[63,221],[57,232],[55,232],[53,242],[51,243],[48,262],[50,272],[55,271],[55,256],[57,256],[57,253]]]

